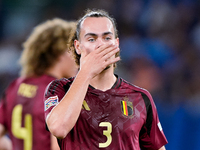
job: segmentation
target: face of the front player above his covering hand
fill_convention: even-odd
[[[78,41],[80,49],[85,49],[87,53],[90,53],[104,44],[119,45],[112,22],[106,17],[86,18],[81,24]]]

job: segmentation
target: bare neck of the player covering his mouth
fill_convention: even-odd
[[[113,69],[109,68],[107,70],[102,71],[99,75],[94,77],[91,80],[90,85],[93,86],[95,89],[106,91],[111,89],[116,80],[117,78],[113,74]]]

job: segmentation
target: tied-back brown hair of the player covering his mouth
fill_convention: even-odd
[[[87,9],[85,14],[83,15],[83,17],[81,17],[77,21],[76,32],[71,37],[71,40],[69,42],[70,50],[73,52],[73,56],[74,56],[75,62],[76,62],[76,64],[78,66],[80,65],[80,57],[81,56],[76,53],[75,46],[74,46],[74,40],[79,40],[80,30],[81,30],[81,23],[88,17],[96,17],[96,18],[106,17],[106,18],[108,18],[113,24],[113,28],[114,28],[114,32],[115,32],[115,38],[118,38],[118,31],[117,31],[116,22],[115,22],[114,18],[109,16],[109,14],[106,11],[102,10],[102,9],[99,9],[99,10],[98,9],[97,10],[95,10],[95,9],[94,10]],[[116,56],[119,56],[119,55],[120,55],[120,52],[118,52],[116,54]],[[114,67],[116,67],[116,63],[114,64]]]

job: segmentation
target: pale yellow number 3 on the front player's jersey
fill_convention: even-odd
[[[110,122],[101,122],[99,124],[100,127],[107,127],[107,130],[103,131],[103,135],[105,135],[107,137],[107,141],[105,143],[99,143],[99,148],[105,148],[108,147],[110,145],[110,143],[112,142],[112,136],[111,136],[111,132],[112,132],[112,125]]]

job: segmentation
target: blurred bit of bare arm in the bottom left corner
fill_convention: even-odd
[[[2,124],[0,124],[0,150],[12,150],[11,140],[5,135],[6,130]]]

